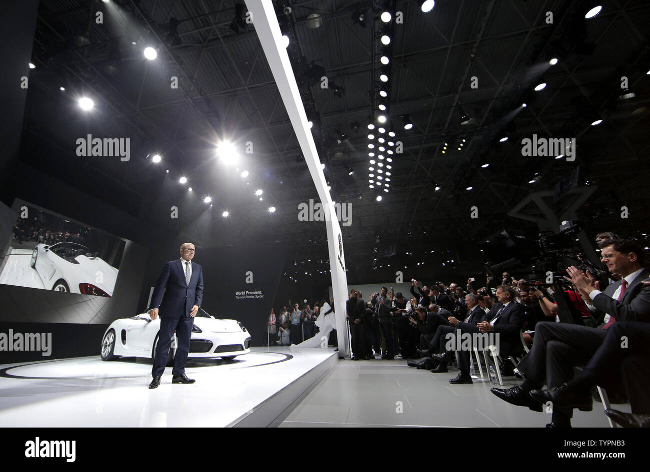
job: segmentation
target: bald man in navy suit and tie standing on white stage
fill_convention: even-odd
[[[156,346],[151,384],[157,388],[167,364],[169,346],[176,332],[176,356],[172,370],[172,384],[192,384],[194,379],[185,375],[185,363],[190,349],[194,316],[203,300],[203,268],[192,262],[196,249],[192,243],[181,245],[181,258],[166,262],[151,295],[149,316],[158,317],[161,312],[161,330]],[[164,296],[162,292],[164,291]],[[162,301],[161,301],[162,299]]]

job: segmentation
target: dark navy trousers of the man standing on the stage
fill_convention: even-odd
[[[194,318],[191,316],[183,314],[161,316],[161,330],[156,346],[153,368],[151,369],[153,377],[158,377],[164,373],[174,330],[176,331],[177,346],[172,375],[177,376],[185,373],[185,363],[187,362],[187,353],[190,348],[190,338],[192,337],[192,326],[194,326]]]

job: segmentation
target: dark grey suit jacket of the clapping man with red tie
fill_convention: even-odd
[[[616,321],[650,322],[650,286],[641,283],[648,275],[650,271],[643,269],[627,286],[621,301],[613,299],[612,295],[621,286],[622,280],[609,284],[603,293],[594,297],[593,306],[598,308],[598,312],[591,314],[598,320],[602,320],[608,313],[614,316]]]

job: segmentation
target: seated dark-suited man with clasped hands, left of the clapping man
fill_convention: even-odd
[[[499,334],[499,337],[496,339],[498,339],[497,347],[499,348],[500,355],[516,356],[517,354],[520,354],[523,347],[521,346],[519,332],[525,322],[525,310],[521,304],[514,301],[515,295],[516,292],[512,287],[501,285],[497,288],[497,299],[499,300],[499,303],[495,304],[489,313],[482,316],[481,321],[476,325],[455,320],[455,326],[439,327],[436,336],[438,337],[440,347],[443,347],[443,349],[439,354],[432,354],[434,359],[441,362],[439,367],[441,369],[447,367],[447,363],[452,360],[454,351],[448,351],[446,349],[445,338],[447,337],[447,333],[455,335],[456,330],[460,330],[461,335],[464,333],[480,334],[494,332],[495,334]],[[460,342],[458,342],[458,344],[460,344]],[[472,347],[474,347],[474,345],[472,345]],[[487,346],[482,347],[486,348]],[[469,375],[469,356],[470,351],[467,349],[461,349],[458,351],[458,367],[460,373],[455,379],[449,380],[451,384],[473,383],[472,378]]]

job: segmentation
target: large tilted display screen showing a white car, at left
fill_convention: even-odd
[[[112,297],[125,241],[29,203],[0,266],[0,284]]]

